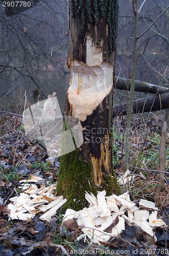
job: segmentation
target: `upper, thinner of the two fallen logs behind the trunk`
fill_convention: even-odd
[[[122,77],[115,77],[116,78],[116,89],[119,90],[130,90],[131,80]],[[166,93],[169,92],[169,88],[156,86],[155,84],[143,82],[139,80],[135,80],[135,89],[136,92],[145,92],[145,93]]]

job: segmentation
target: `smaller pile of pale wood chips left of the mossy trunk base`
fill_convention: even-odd
[[[35,184],[30,186],[29,183],[39,180],[43,179],[32,175],[29,180],[20,181],[20,188],[24,193],[9,199],[11,201],[8,204],[8,208],[11,210],[9,219],[27,220],[27,218],[34,218],[39,212],[44,212],[40,219],[50,222],[51,217],[66,203],[67,199],[64,199],[63,196],[54,197],[52,194],[56,189],[55,185],[45,187],[43,183],[40,188]]]

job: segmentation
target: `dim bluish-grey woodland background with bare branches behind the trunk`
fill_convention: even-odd
[[[119,1],[116,75],[131,76],[133,36],[132,1]],[[143,1],[139,1],[139,6]],[[61,109],[69,84],[67,62],[69,1],[43,1],[30,10],[6,16],[0,11],[1,110],[19,112],[28,103],[56,91]],[[138,31],[144,32],[166,8],[167,1],[147,1],[139,13]],[[136,79],[168,87],[168,11],[139,39]],[[116,91],[116,90],[115,90]],[[136,93],[136,97],[145,97]],[[119,98],[120,96],[120,98]],[[115,92],[114,101],[126,101],[127,91]]]

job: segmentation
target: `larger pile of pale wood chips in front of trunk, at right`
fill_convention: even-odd
[[[125,229],[125,221],[130,225],[135,224],[152,237],[153,227],[166,225],[157,219],[155,203],[141,199],[137,207],[130,201],[128,192],[109,197],[106,197],[105,190],[98,192],[97,197],[86,192],[86,199],[90,203],[89,208],[78,212],[67,209],[64,221],[75,218],[83,233],[97,244],[120,234]]]

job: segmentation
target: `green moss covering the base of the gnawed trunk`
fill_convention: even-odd
[[[57,191],[68,199],[65,208],[82,209],[85,190],[94,192],[91,163],[83,160],[79,150],[61,156]]]

